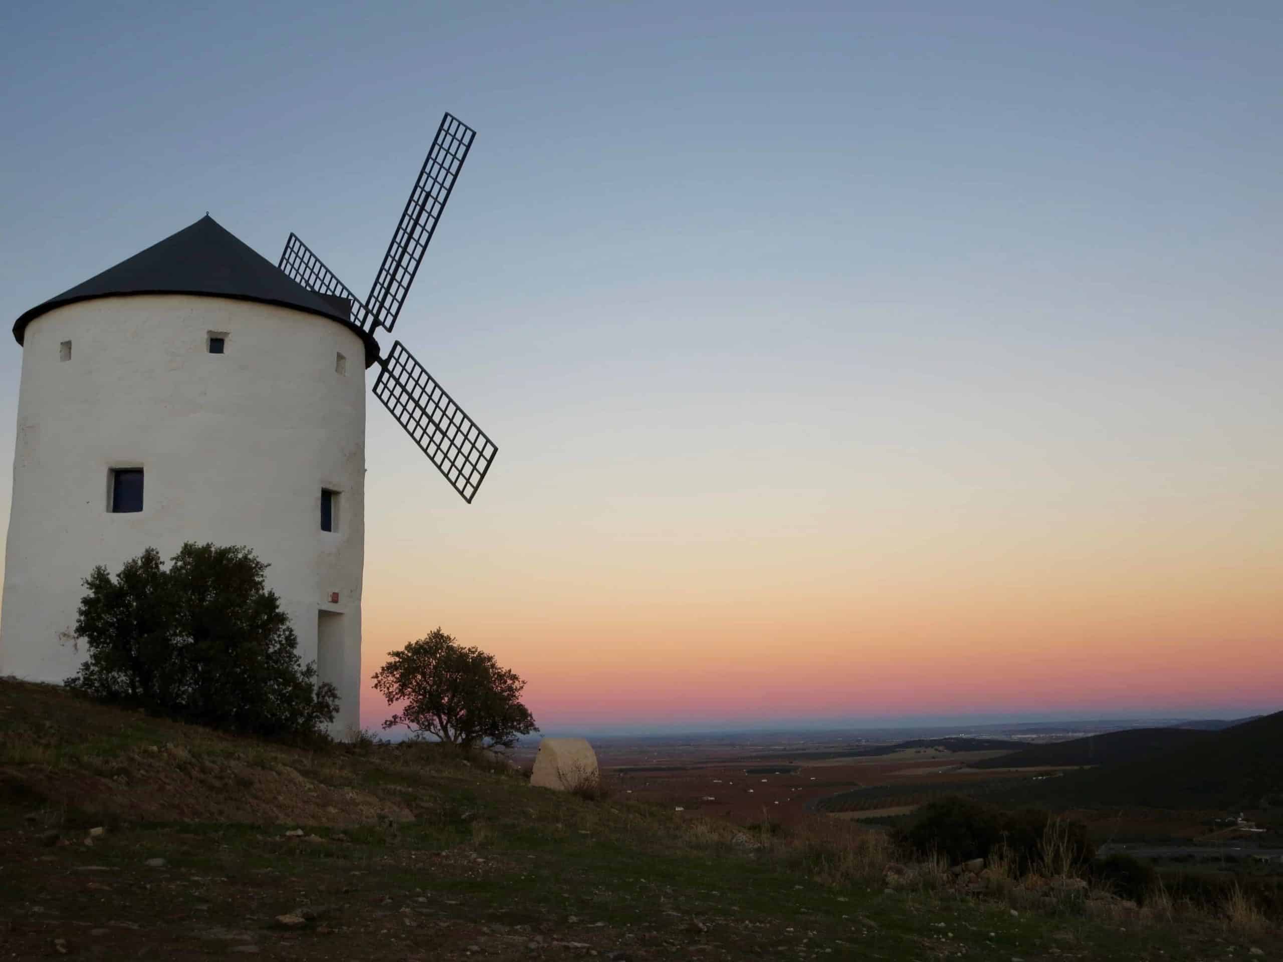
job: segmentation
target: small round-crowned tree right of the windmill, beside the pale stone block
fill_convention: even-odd
[[[404,703],[385,729],[404,725],[461,748],[512,748],[517,735],[539,731],[518,700],[526,682],[440,629],[393,652],[373,682],[387,704]]]

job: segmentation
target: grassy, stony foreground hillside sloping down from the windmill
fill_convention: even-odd
[[[426,747],[287,748],[0,680],[5,957],[1166,962],[1283,948],[1211,922],[888,889],[874,838],[819,818],[744,832]]]

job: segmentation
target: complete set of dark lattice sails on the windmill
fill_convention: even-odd
[[[310,291],[349,300],[362,330],[391,333],[475,139],[476,131],[449,112],[441,117],[364,301],[296,233],[290,233],[277,267]],[[399,340],[386,355],[380,351],[376,363],[375,396],[471,504],[498,453],[494,441]]]

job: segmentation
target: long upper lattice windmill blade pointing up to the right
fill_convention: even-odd
[[[396,325],[396,317],[400,314],[402,304],[405,303],[409,286],[414,282],[423,251],[432,240],[436,222],[445,209],[445,201],[450,199],[454,180],[463,169],[463,162],[475,137],[476,131],[457,117],[446,113],[441,118],[441,126],[432,140],[432,149],[427,151],[423,169],[420,171],[414,190],[405,201],[400,223],[396,224],[384,263],[378,268],[378,276],[375,277],[375,285],[366,298],[375,323],[381,325],[389,333]]]

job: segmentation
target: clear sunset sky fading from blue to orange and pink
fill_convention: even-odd
[[[1283,708],[1278,3],[187,8],[0,13],[0,316],[207,210],[364,291],[476,127],[396,335],[499,457],[467,505],[371,399],[367,677],[440,625],[558,732]]]

